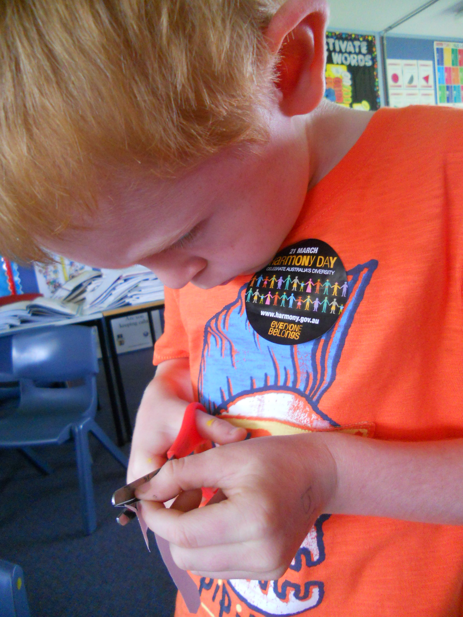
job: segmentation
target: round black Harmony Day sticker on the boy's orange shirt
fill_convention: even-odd
[[[246,314],[267,341],[299,345],[332,328],[347,299],[340,256],[322,240],[302,240],[280,251],[252,277]]]

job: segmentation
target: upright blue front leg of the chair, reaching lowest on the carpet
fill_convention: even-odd
[[[86,427],[82,428],[75,425],[72,427],[72,433],[75,442],[83,526],[85,533],[90,535],[96,529],[96,513],[91,478],[90,450],[88,449],[88,432]]]

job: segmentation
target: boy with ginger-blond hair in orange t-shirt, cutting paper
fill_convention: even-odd
[[[463,112],[322,101],[327,16],[4,2],[0,248],[166,285],[128,480],[206,405],[200,431],[227,445],[138,489],[199,615],[462,615]],[[269,341],[246,286],[308,239],[349,294],[322,336]],[[198,508],[202,486],[223,499]]]

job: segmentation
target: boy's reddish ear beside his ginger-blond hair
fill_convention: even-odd
[[[278,104],[288,116],[308,114],[325,93],[325,0],[287,0],[265,33],[280,58],[275,87]]]

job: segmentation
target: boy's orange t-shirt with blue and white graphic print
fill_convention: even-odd
[[[463,437],[463,112],[373,115],[283,246],[306,238],[348,271],[335,328],[274,344],[246,320],[246,278],[188,284],[166,289],[154,362],[189,357],[198,400],[257,434]],[[463,615],[463,528],[322,515],[278,581],[194,580],[201,617]]]

